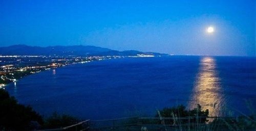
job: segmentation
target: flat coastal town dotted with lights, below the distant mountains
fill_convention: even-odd
[[[0,88],[16,82],[29,74],[65,67],[76,63],[124,57],[154,57],[154,55],[137,54],[136,56],[42,56],[42,55],[0,55]]]

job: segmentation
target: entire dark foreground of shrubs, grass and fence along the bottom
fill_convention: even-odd
[[[89,130],[255,130],[256,116],[209,117],[209,111],[202,111],[201,105],[186,110],[183,105],[166,107],[155,117],[133,117],[125,119],[89,121]],[[81,120],[53,113],[42,118],[30,106],[19,104],[8,92],[0,89],[0,130],[56,129],[81,123]],[[83,122],[82,122],[83,123]],[[69,128],[84,129],[78,124]],[[73,128],[73,129],[72,129]],[[87,129],[88,130],[88,129]]]

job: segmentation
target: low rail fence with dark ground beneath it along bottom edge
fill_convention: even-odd
[[[256,128],[256,115],[243,117],[127,117],[86,120],[55,130],[247,130]]]

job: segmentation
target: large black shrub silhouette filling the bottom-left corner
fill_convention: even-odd
[[[32,130],[42,124],[42,117],[30,106],[18,104],[14,97],[0,89],[0,130]]]

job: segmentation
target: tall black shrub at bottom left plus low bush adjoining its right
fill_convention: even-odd
[[[0,130],[34,130],[66,127],[79,122],[69,115],[53,113],[43,119],[30,106],[18,104],[8,92],[0,89]]]

